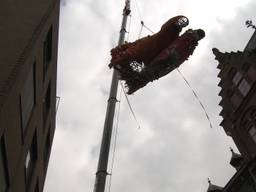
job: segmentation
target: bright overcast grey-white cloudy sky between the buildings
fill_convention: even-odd
[[[110,49],[117,44],[125,0],[63,0],[58,59],[56,132],[46,192],[92,192],[112,70]],[[136,6],[136,1],[137,5]],[[137,39],[141,18],[151,30],[176,15],[202,28],[206,37],[180,66],[211,118],[177,71],[129,96],[136,121],[122,96],[111,192],[205,192],[207,178],[224,186],[232,139],[219,126],[220,81],[211,49],[243,50],[253,31],[254,0],[131,0],[128,40]],[[143,29],[142,36],[150,35]],[[118,105],[117,105],[118,106]],[[112,158],[112,155],[110,156]],[[110,160],[111,162],[112,160]],[[109,178],[107,190],[109,191]]]

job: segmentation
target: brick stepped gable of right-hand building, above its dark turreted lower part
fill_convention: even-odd
[[[251,40],[243,52],[213,49],[220,69],[221,126],[246,160],[256,155],[256,54],[250,45],[255,40]]]

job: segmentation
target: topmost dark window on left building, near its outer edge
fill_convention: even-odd
[[[49,66],[49,63],[52,59],[52,27],[49,29],[46,38],[44,40],[44,48],[43,48],[43,73],[44,78]]]

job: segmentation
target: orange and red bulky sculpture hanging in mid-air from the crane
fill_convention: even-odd
[[[193,54],[205,33],[202,29],[188,29],[180,35],[188,24],[185,16],[173,17],[158,33],[111,50],[109,67],[119,71],[120,79],[125,81],[128,89],[127,94],[167,75]]]

